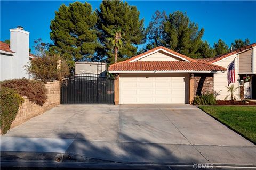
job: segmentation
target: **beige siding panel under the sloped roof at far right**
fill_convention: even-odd
[[[252,49],[238,54],[239,73],[252,73]]]

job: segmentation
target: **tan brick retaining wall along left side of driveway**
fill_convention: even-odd
[[[45,111],[60,104],[60,82],[47,82],[47,101],[43,106],[39,106],[30,102],[27,97],[24,98],[24,103],[20,106],[15,120],[12,122],[11,128],[26,122],[32,117],[38,116]]]

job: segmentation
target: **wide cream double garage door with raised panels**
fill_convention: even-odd
[[[121,75],[121,104],[187,103],[187,75]]]

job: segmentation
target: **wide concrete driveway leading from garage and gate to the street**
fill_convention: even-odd
[[[29,143],[29,144],[28,144]],[[1,151],[136,163],[256,165],[256,146],[195,106],[60,105],[10,130]]]

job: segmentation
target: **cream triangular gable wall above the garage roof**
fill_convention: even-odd
[[[149,56],[141,58],[139,61],[178,61],[181,60],[178,57],[172,56],[165,52],[156,52]]]

